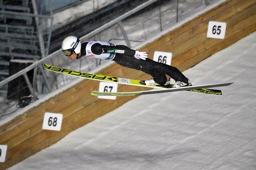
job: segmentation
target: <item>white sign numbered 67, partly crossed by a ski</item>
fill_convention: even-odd
[[[100,82],[99,86],[99,92],[117,92],[117,83],[112,82]],[[104,99],[116,99],[116,96],[98,96],[98,98],[104,98]]]

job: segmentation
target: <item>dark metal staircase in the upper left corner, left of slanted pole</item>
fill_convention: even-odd
[[[0,1],[0,78],[9,75],[11,59],[39,59],[28,0]]]

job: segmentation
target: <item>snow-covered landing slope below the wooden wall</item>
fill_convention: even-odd
[[[256,32],[186,70],[223,96],[140,96],[10,169],[256,169]]]

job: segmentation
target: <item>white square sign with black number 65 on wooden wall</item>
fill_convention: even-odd
[[[226,22],[210,21],[208,24],[207,37],[224,39],[226,27],[227,27]]]

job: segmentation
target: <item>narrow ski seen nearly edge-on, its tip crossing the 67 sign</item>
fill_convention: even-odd
[[[205,88],[213,88],[213,87],[222,87],[229,86],[234,82],[228,83],[219,83],[219,84],[208,84],[208,85],[198,85],[198,86],[185,86],[179,88],[170,88],[170,89],[158,89],[158,90],[147,90],[147,91],[138,91],[138,92],[99,92],[92,91],[91,95],[93,96],[136,96],[136,95],[145,95],[145,94],[157,94],[157,93],[167,93],[167,92],[177,92],[177,91],[190,91],[196,92]],[[199,90],[198,90],[199,89]],[[207,94],[211,94],[211,91],[206,91]]]

